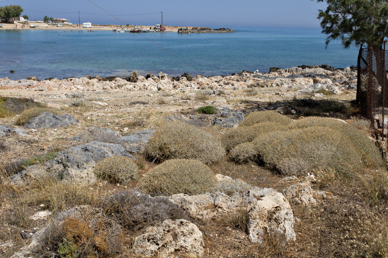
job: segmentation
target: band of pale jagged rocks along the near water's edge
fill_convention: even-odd
[[[337,68],[327,65],[300,66],[286,69],[271,68],[268,73],[247,72],[234,73],[229,76],[191,77],[184,73],[182,77],[168,77],[166,73],[158,75],[139,75],[132,72],[130,77],[92,77],[55,79],[40,81],[36,77],[10,80],[0,79],[0,90],[28,89],[32,91],[173,91],[191,92],[204,89],[239,90],[256,87],[272,87],[324,96],[355,91],[357,87],[355,67]],[[279,93],[280,94],[280,93]]]

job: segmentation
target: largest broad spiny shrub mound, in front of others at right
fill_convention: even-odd
[[[305,175],[325,168],[346,174],[362,167],[360,155],[349,138],[330,128],[272,132],[252,143],[257,158],[283,175]]]

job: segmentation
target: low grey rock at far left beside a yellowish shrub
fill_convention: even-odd
[[[28,120],[28,122],[24,125],[24,128],[39,129],[76,124],[78,124],[78,120],[76,120],[71,114],[66,113],[61,116],[56,116],[49,112],[43,112],[39,116]]]

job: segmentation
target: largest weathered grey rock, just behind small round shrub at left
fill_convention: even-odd
[[[106,144],[93,141],[61,151],[54,160],[64,167],[81,168],[87,167],[92,161],[100,161],[111,156],[124,156],[133,159],[133,156],[128,154],[120,144]]]

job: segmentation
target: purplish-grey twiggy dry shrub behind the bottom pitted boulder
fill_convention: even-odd
[[[183,210],[165,196],[155,198],[130,190],[110,196],[103,205],[107,214],[131,230],[152,226],[166,219],[187,219]]]

